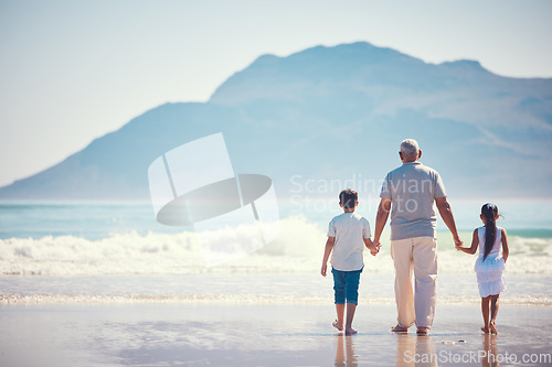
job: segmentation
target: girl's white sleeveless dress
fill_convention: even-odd
[[[485,227],[477,228],[477,234],[479,237],[479,257],[476,260],[474,270],[477,273],[479,294],[481,298],[500,294],[500,292],[506,290],[506,279],[502,274],[506,269],[506,265],[501,251],[501,228],[497,227],[497,238],[495,239],[492,249],[485,261]]]

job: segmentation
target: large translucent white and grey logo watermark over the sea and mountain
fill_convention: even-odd
[[[258,250],[279,233],[272,180],[236,175],[222,132],[166,152],[148,179],[157,220],[193,226],[208,267]]]

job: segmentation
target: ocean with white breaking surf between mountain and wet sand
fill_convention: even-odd
[[[191,228],[156,222],[149,203],[0,204],[0,304],[328,303],[331,277],[319,273],[327,224],[339,207],[280,207],[279,235],[259,250],[209,267]],[[315,203],[316,204],[316,203]],[[480,201],[452,203],[469,245]],[[376,203],[358,212],[374,225]],[[505,304],[552,306],[552,205],[499,203],[510,246]],[[438,302],[479,302],[475,256],[454,249],[438,223]],[[383,239],[389,238],[389,228]],[[393,304],[389,241],[364,253],[360,302]]]

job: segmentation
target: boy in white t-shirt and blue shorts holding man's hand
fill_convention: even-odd
[[[328,258],[331,250],[331,272],[333,273],[333,290],[338,319],[333,327],[343,331],[343,316],[347,301],[346,335],[357,334],[352,328],[352,319],[359,299],[360,273],[364,268],[362,251],[364,246],[375,256],[380,248],[370,239],[370,224],[365,218],[354,213],[359,205],[359,195],[351,188],[339,194],[339,206],[343,214],[331,219],[328,228],[328,240],[323,251],[321,274],[326,277]]]

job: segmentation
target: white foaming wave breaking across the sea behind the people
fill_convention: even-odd
[[[389,235],[389,233],[384,233]],[[202,234],[210,236],[210,234]],[[211,234],[235,238],[231,228]],[[0,240],[0,271],[4,276],[178,274],[205,272],[318,272],[326,228],[304,216],[280,220],[280,233],[253,253],[209,268],[195,234],[114,234],[91,240],[75,236],[46,236]],[[471,238],[464,233],[463,238]],[[245,236],[245,241],[247,236]],[[473,273],[475,256],[454,249],[450,235],[438,234],[440,273]],[[511,236],[508,273],[552,273],[552,238]],[[467,245],[467,244],[466,244]],[[389,241],[378,257],[364,252],[364,272],[393,273]]]

